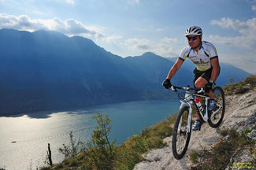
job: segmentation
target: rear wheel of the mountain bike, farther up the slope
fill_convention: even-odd
[[[209,110],[208,112],[208,123],[210,127],[219,127],[225,111],[225,102],[224,102],[224,91],[221,87],[214,87],[213,94],[216,98],[216,108],[213,110]]]

